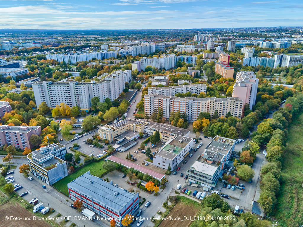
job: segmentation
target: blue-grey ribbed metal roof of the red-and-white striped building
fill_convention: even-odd
[[[82,193],[92,196],[93,199],[118,211],[123,209],[136,196],[134,193],[91,175],[89,171],[68,183],[68,187],[80,190]]]

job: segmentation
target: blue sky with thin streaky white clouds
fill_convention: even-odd
[[[301,0],[0,0],[0,28],[302,26],[302,12]]]

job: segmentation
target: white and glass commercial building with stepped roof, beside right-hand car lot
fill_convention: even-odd
[[[186,171],[188,181],[213,189],[218,178],[222,177],[224,166],[234,150],[235,140],[215,136],[206,146],[203,154]]]

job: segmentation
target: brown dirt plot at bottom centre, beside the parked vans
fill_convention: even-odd
[[[190,206],[188,204],[185,204],[184,202],[178,202],[174,208],[169,212],[169,214],[166,216],[166,220],[163,220],[159,227],[186,227],[191,224],[191,220],[194,220],[193,217],[195,217],[198,213],[199,209]],[[170,219],[169,216],[171,217]],[[187,217],[187,220],[184,220],[183,216]],[[191,217],[191,220],[190,220]],[[180,220],[177,220],[176,218],[180,218]],[[182,222],[181,222],[182,221]],[[182,223],[182,224],[181,224]],[[181,225],[180,225],[181,224]]]

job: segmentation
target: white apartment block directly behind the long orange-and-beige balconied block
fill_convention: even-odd
[[[178,93],[185,94],[190,92],[191,94],[200,94],[204,92],[206,94],[206,84],[188,84],[172,87],[149,87],[147,94],[158,94],[166,96],[175,96]]]

